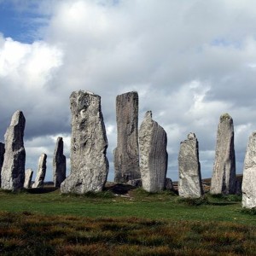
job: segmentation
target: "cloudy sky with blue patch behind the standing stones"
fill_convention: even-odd
[[[254,0],[0,0],[0,141],[16,110],[26,117],[26,168],[56,138],[69,166],[69,96],[102,96],[113,180],[116,96],[139,95],[168,139],[167,177],[177,180],[180,142],[199,141],[202,177],[212,176],[219,117],[234,120],[236,172],[256,130]],[[34,174],[35,175],[35,174]]]

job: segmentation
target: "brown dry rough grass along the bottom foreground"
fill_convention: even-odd
[[[256,227],[0,212],[1,255],[253,255]]]

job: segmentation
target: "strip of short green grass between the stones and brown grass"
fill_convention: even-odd
[[[198,204],[194,201],[180,200],[172,192],[152,194],[135,189],[129,194],[130,197],[121,197],[114,196],[110,191],[83,196],[61,195],[59,190],[41,194],[0,191],[0,210],[91,218],[108,216],[256,224],[256,218],[252,214],[241,212],[241,197],[240,201],[237,201],[237,196],[236,201],[230,201],[233,195],[207,195],[207,200]]]

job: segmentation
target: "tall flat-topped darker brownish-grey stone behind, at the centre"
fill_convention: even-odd
[[[138,154],[138,95],[136,91],[116,97],[117,148],[114,156],[114,181],[126,183],[141,177]]]

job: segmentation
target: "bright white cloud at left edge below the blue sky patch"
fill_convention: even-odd
[[[24,90],[40,89],[61,66],[61,50],[44,42],[21,44],[6,38],[0,49],[0,77]]]

